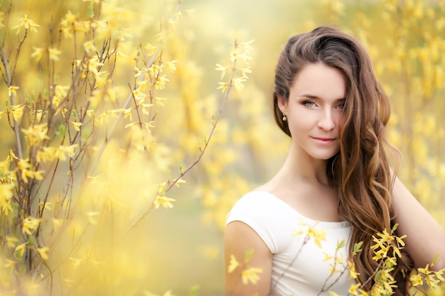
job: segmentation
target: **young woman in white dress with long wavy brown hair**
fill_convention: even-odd
[[[226,295],[348,295],[354,283],[369,291],[379,267],[372,236],[395,224],[407,237],[390,274],[395,295],[407,295],[410,271],[445,256],[445,235],[390,169],[390,102],[363,46],[328,26],[290,38],[276,67],[274,111],[291,137],[289,155],[227,216]],[[359,242],[363,251],[352,256]],[[242,262],[250,250],[248,265],[262,268],[255,285],[242,283],[240,268],[227,270],[231,256]],[[444,266],[445,258],[433,269]]]

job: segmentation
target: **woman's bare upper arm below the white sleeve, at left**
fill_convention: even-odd
[[[254,250],[252,258],[245,262],[245,254]],[[230,256],[233,255],[240,263],[232,273],[228,272]],[[270,290],[272,273],[272,253],[258,234],[241,221],[230,222],[225,229],[225,295],[226,296],[267,296]],[[262,268],[256,285],[242,283],[242,270],[246,268]],[[255,294],[257,293],[257,294]]]

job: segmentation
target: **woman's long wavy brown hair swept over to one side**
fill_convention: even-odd
[[[279,55],[275,68],[274,117],[278,126],[291,136],[282,120],[277,99],[289,99],[291,84],[306,65],[321,62],[340,70],[346,82],[345,122],[341,131],[340,152],[328,160],[326,172],[338,190],[343,218],[353,226],[350,251],[363,241],[363,252],[354,256],[358,280],[365,290],[373,285],[378,263],[372,260],[372,236],[392,221],[392,185],[388,152],[399,156],[385,139],[390,119],[390,101],[377,82],[372,62],[365,48],[352,36],[331,26],[321,26],[309,33],[291,37]],[[392,275],[397,280],[395,295],[408,295],[405,275],[412,270],[412,260],[402,250]]]

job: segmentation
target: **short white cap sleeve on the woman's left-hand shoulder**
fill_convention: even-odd
[[[277,198],[267,192],[250,192],[241,197],[227,214],[226,225],[242,221],[264,241],[271,253],[289,245],[292,233],[286,223],[286,213]]]

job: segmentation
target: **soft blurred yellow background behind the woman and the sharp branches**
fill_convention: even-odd
[[[167,26],[165,16],[178,2],[104,2],[119,8],[110,19],[116,26],[128,28],[131,35],[122,43],[127,60],[114,72],[115,83],[125,89],[134,79],[134,48],[156,42],[156,34]],[[9,1],[0,3],[4,9]],[[30,34],[26,47],[23,45],[16,70],[14,85],[21,87],[18,97],[26,97],[43,92],[42,77],[48,75],[29,57],[33,46],[50,43],[50,24],[58,23],[68,11],[87,19],[89,3],[12,3],[9,27],[24,14],[41,25],[38,34]],[[97,9],[99,4],[94,5]],[[97,199],[109,196],[120,207],[114,209],[114,224],[109,224],[106,214],[98,214],[95,225],[78,214],[70,227],[87,229],[85,236],[76,239],[67,231],[58,238],[60,253],[71,250],[65,261],[50,251],[53,257],[50,255],[48,263],[60,265],[54,269],[60,271],[55,279],[59,295],[163,295],[168,291],[172,295],[223,295],[225,215],[242,194],[277,172],[289,144],[272,117],[274,65],[287,38],[321,24],[342,28],[368,48],[375,72],[392,101],[387,132],[403,155],[400,178],[445,226],[445,1],[183,0],[180,7],[182,16],[163,51],[164,57],[178,62],[161,91],[166,100],[156,109],[151,132],[156,145],[144,153],[125,148],[128,136],[122,128],[109,141],[95,172],[102,176],[97,181],[100,185],[80,188],[83,183],[76,183],[81,194],[76,213],[107,212],[105,207],[97,207]],[[2,35],[11,31],[7,26],[1,30]],[[14,33],[8,34],[14,37]],[[4,40],[14,39],[4,36]],[[183,177],[186,183],[168,192],[168,197],[176,199],[173,208],[154,209],[125,232],[123,229],[150,207],[156,184],[166,180],[168,172],[175,177],[180,167],[186,168],[198,158],[224,97],[217,89],[221,73],[215,67],[217,63],[230,65],[234,40],[254,40],[252,73],[245,88],[239,92],[232,89],[208,150]],[[6,50],[11,50],[6,45]],[[68,55],[72,51],[73,47],[66,45],[56,66],[60,84],[70,82],[72,57]],[[7,92],[2,82],[0,111],[6,110]],[[0,138],[0,160],[4,160],[15,145],[6,116],[0,119]],[[58,175],[61,184],[63,175]],[[63,186],[53,188],[54,195],[57,190]],[[121,233],[125,236],[119,239]],[[106,262],[87,268],[90,259],[85,254],[91,249],[96,254],[102,250],[99,257]],[[75,260],[80,264],[75,265]],[[4,287],[8,280],[4,277]],[[48,286],[42,289],[48,292]]]

